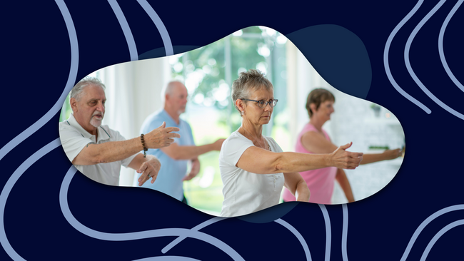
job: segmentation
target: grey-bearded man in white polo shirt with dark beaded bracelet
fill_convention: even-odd
[[[163,148],[179,138],[178,128],[159,128],[126,140],[118,131],[101,126],[105,114],[104,84],[98,78],[84,78],[71,91],[69,103],[73,110],[66,121],[59,123],[61,145],[71,163],[87,177],[106,185],[118,185],[121,165],[141,173],[142,185],[154,183],[161,167],[158,159],[146,155],[148,148]],[[140,153],[144,151],[144,154]]]

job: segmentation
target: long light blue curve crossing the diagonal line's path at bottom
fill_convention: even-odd
[[[157,230],[146,230],[140,232],[128,232],[128,233],[108,233],[108,232],[100,232],[97,230],[93,230],[89,227],[86,227],[81,224],[74,215],[72,215],[71,210],[69,209],[68,205],[68,189],[69,184],[71,183],[74,174],[76,173],[76,168],[74,165],[71,165],[68,172],[64,176],[63,183],[61,183],[60,193],[59,193],[59,203],[61,212],[64,215],[64,218],[69,222],[69,224],[74,227],[79,232],[87,235],[89,237],[94,237],[99,240],[108,240],[108,241],[126,241],[126,240],[140,240],[144,238],[150,237],[172,237],[172,236],[186,236],[192,237],[198,240],[203,240],[204,242],[208,242],[211,245],[218,247],[223,252],[226,252],[227,255],[232,257],[233,260],[241,260],[244,261],[241,255],[238,255],[236,250],[233,250],[232,247],[226,245],[226,243],[218,240],[216,237],[211,235],[205,234],[203,232],[198,231],[191,231],[186,228],[162,228]]]

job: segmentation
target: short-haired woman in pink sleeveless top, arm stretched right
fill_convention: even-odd
[[[323,88],[316,88],[309,93],[306,100],[310,121],[303,127],[298,135],[295,151],[298,153],[332,153],[337,146],[322,128],[326,121],[331,119],[334,112],[335,96]],[[360,164],[374,163],[380,160],[398,158],[401,150],[385,150],[378,154],[364,154]],[[354,201],[353,191],[345,171],[341,168],[321,168],[300,173],[311,192],[309,202],[318,204],[331,204],[335,180],[340,184],[348,202]],[[288,191],[283,191],[283,201],[295,201],[295,197]]]

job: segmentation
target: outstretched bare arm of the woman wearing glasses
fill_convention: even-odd
[[[351,144],[340,146],[330,154],[273,153],[252,146],[243,152],[236,166],[257,174],[302,172],[326,167],[354,169],[363,160],[363,153],[346,151]]]

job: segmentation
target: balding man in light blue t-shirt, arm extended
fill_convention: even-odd
[[[214,143],[196,146],[190,125],[179,116],[186,111],[188,91],[186,86],[179,81],[171,81],[163,90],[164,106],[160,111],[151,113],[141,126],[141,133],[149,133],[161,123],[166,122],[166,127],[177,127],[181,138],[174,138],[169,147],[161,149],[148,149],[147,154],[154,155],[161,162],[156,182],[145,183],[144,188],[158,190],[170,195],[177,200],[187,203],[183,195],[183,181],[191,180],[200,170],[198,155],[211,150],[221,150],[224,139],[216,140]],[[187,163],[191,161],[191,171],[187,175]],[[140,174],[133,177],[133,185],[138,184]]]

